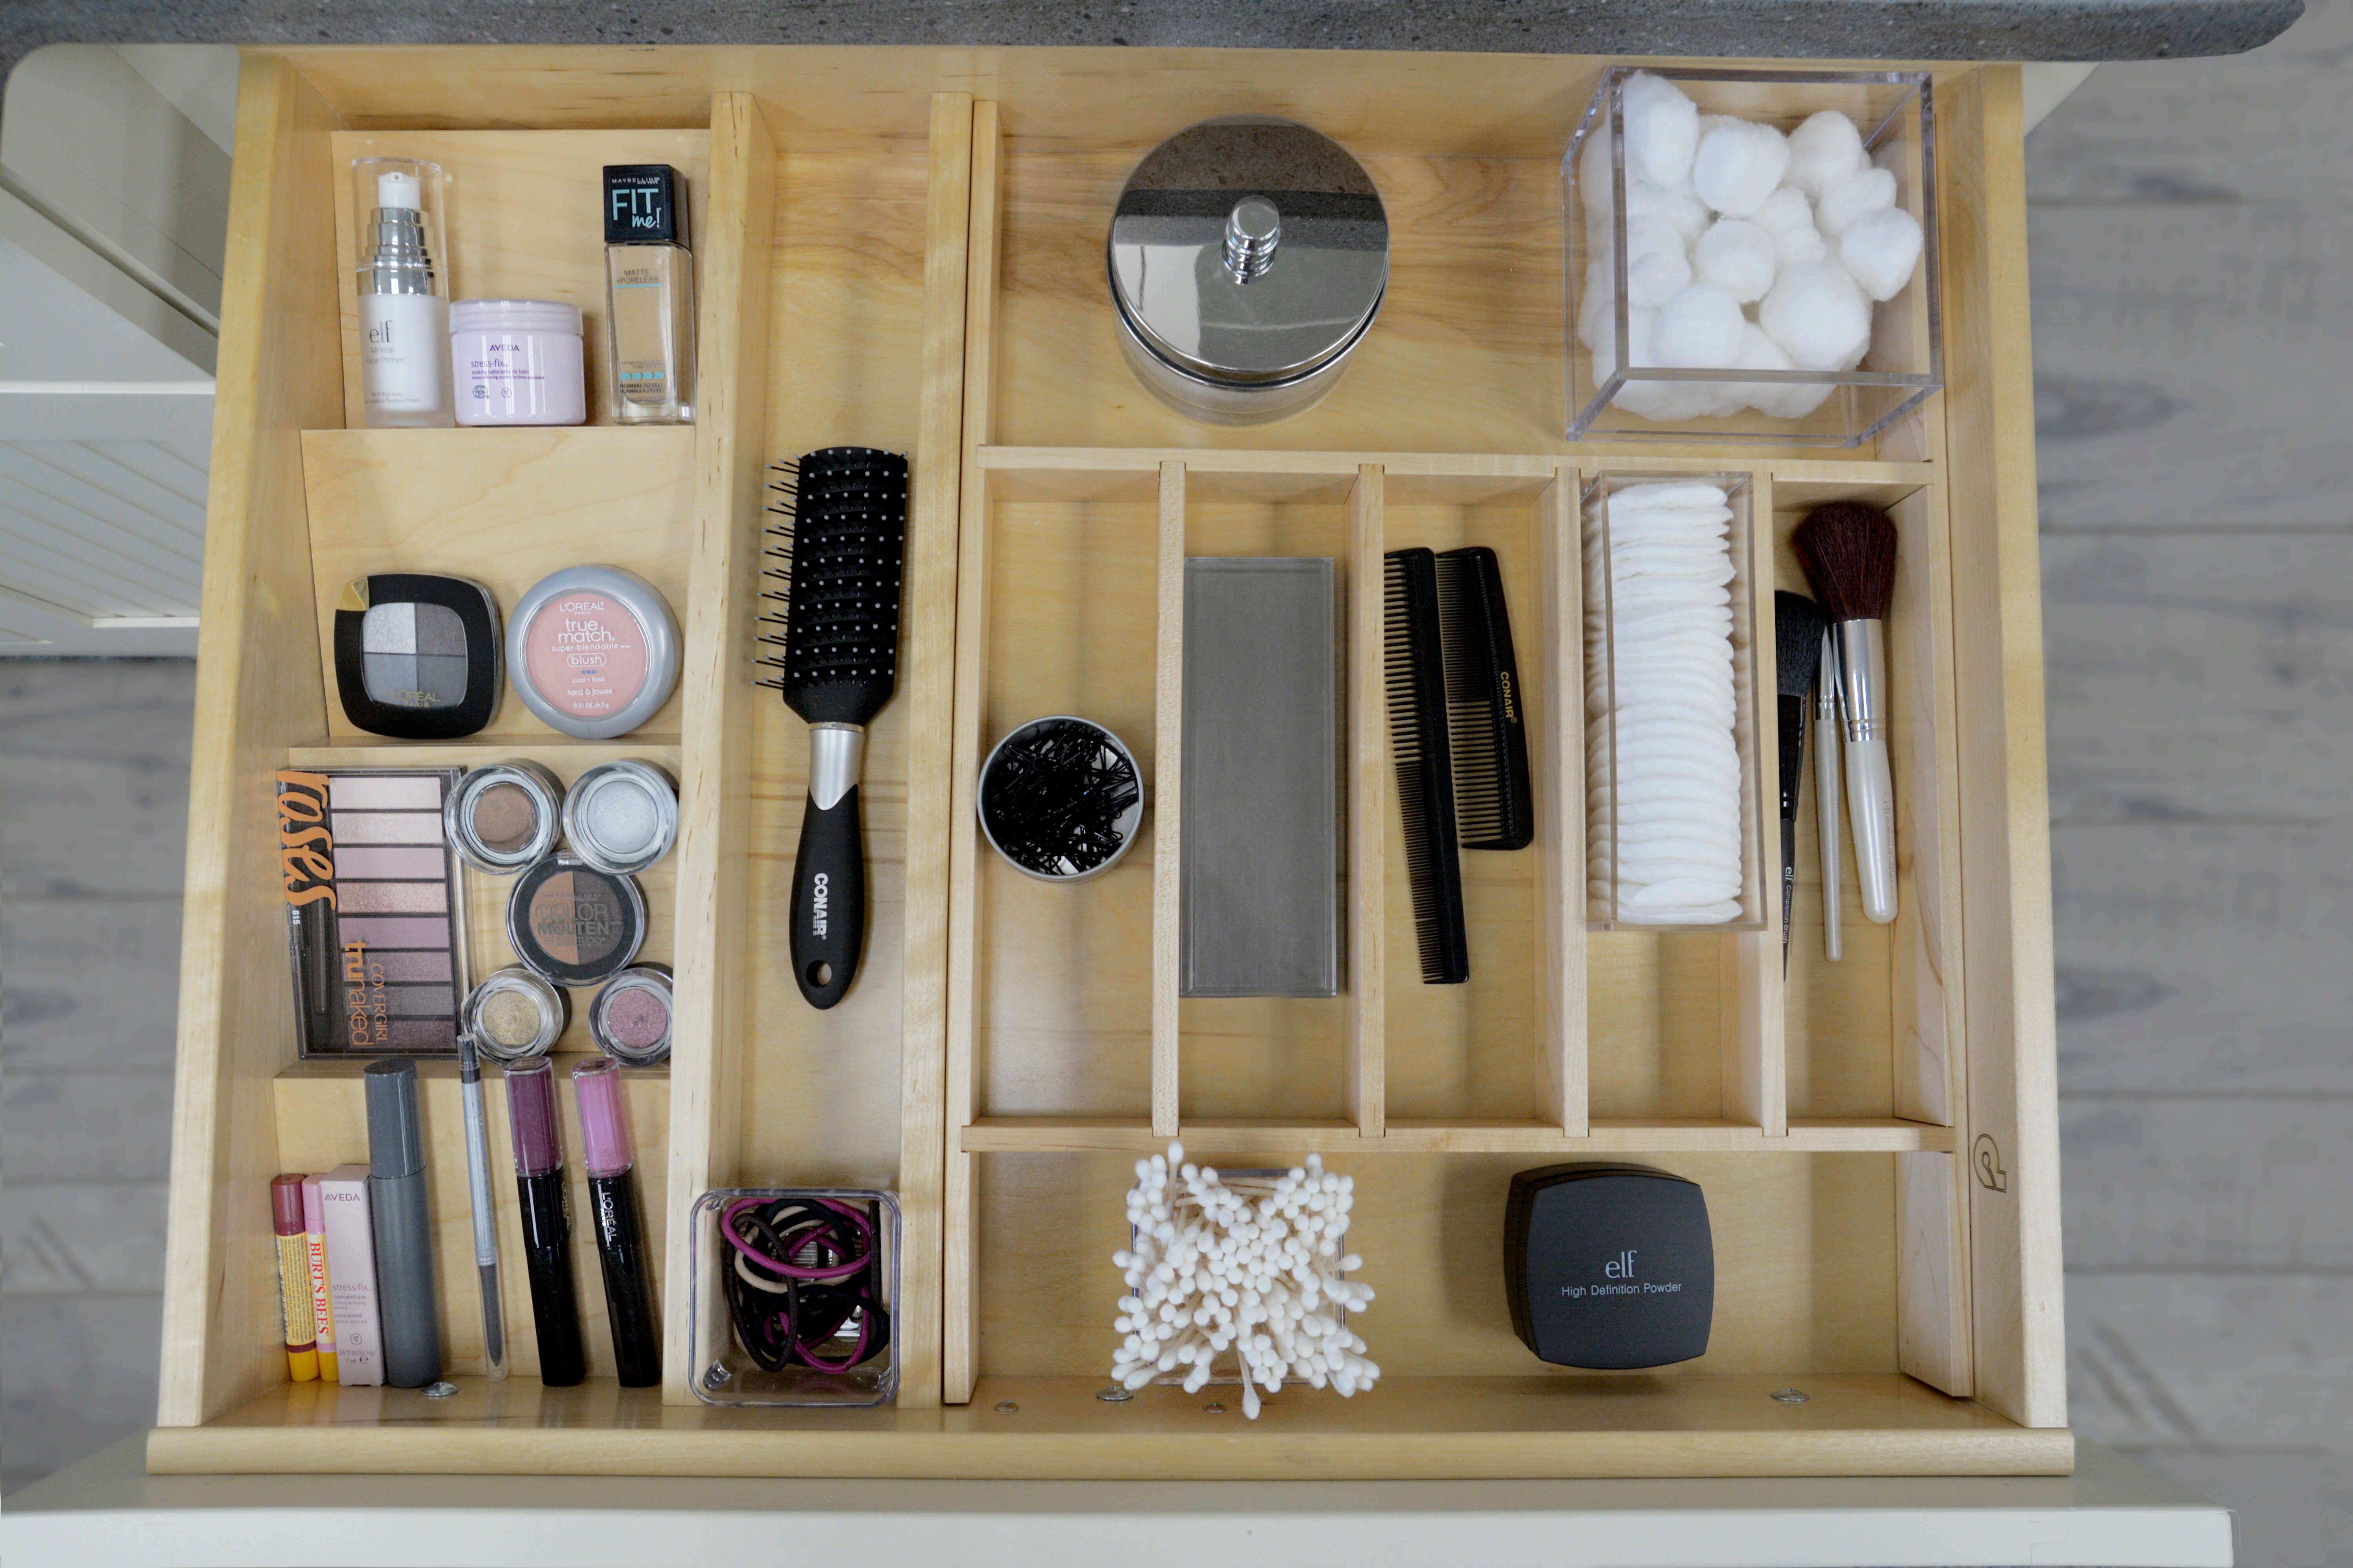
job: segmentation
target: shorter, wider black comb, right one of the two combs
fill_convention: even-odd
[[[1504,571],[1487,545],[1438,557],[1438,632],[1457,839],[1464,849],[1527,849],[1537,837],[1537,790],[1527,773],[1520,661],[1511,651]]]

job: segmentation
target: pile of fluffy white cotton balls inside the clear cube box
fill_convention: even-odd
[[[1840,374],[1871,353],[1871,315],[1911,284],[1920,221],[1897,176],[1873,167],[1838,110],[1786,136],[1701,115],[1673,82],[1638,71],[1621,87],[1626,127],[1626,353],[1617,343],[1612,261],[1617,169],[1607,125],[1586,132],[1577,186],[1586,273],[1577,339],[1593,381],[1628,367]],[[1760,343],[1758,339],[1765,339]],[[1805,418],[1828,383],[1631,381],[1617,407],[1657,421],[1722,418],[1753,407]]]

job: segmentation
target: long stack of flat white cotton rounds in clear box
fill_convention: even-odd
[[[1722,487],[1704,482],[1586,508],[1586,877],[1614,922],[1741,912],[1729,531]]]

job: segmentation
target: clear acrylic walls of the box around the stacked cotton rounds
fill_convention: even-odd
[[[1609,510],[1607,496],[1635,484],[1704,482],[1718,484],[1732,508],[1732,743],[1741,759],[1739,811],[1741,811],[1741,893],[1739,914],[1715,924],[1668,924],[1645,919],[1638,910],[1624,907],[1619,886],[1619,818],[1621,797],[1640,797],[1640,790],[1621,788],[1619,736],[1617,736],[1617,607],[1612,604],[1609,571]],[[1758,611],[1760,571],[1769,571],[1769,555],[1758,562],[1755,517],[1751,515],[1753,487],[1746,473],[1638,473],[1612,470],[1586,482],[1579,496],[1584,531],[1584,583],[1586,583],[1586,926],[1593,931],[1760,931],[1765,926],[1765,853],[1762,830],[1779,820],[1779,806],[1767,813],[1765,788],[1772,776],[1779,790],[1779,771],[1765,766],[1758,745],[1760,679],[1772,677],[1772,649],[1758,642],[1772,637],[1769,592],[1772,578],[1762,578],[1765,611]],[[1769,550],[1769,541],[1767,541]],[[1779,802],[1779,795],[1774,797]],[[1779,839],[1777,839],[1779,844]]]

